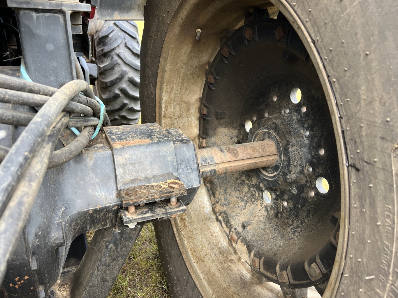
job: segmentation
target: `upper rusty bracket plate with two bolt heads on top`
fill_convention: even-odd
[[[168,180],[166,182],[145,184],[121,190],[117,196],[121,198],[123,207],[140,205],[172,197],[186,195],[185,185],[178,180]]]

